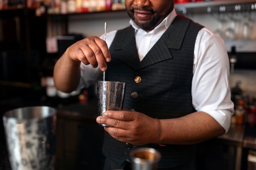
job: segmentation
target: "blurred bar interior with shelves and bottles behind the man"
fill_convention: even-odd
[[[228,134],[199,145],[204,149],[198,151],[198,168],[255,170],[256,0],[175,0],[175,9],[221,36],[229,53],[236,114]],[[129,20],[124,0],[0,0],[0,113],[24,106],[57,108],[56,169],[101,169],[104,157],[95,87],[69,94],[56,90],[54,64],[74,42],[101,36],[104,22],[112,31]],[[0,122],[4,170],[8,153]]]

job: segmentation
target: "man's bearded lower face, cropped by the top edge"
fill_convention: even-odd
[[[132,20],[151,31],[173,10],[173,0],[126,0],[125,7]]]

